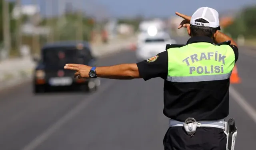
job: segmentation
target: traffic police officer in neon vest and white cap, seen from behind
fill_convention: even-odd
[[[191,36],[185,46],[137,64],[64,68],[75,70],[78,78],[163,78],[163,112],[170,118],[164,149],[226,150],[224,118],[229,113],[229,78],[238,60],[236,42],[219,31],[218,12],[212,8],[199,8],[192,17],[176,14],[184,18],[178,28],[187,28]],[[214,45],[228,40],[230,45]]]

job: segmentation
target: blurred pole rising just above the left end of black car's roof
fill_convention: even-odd
[[[54,41],[54,26],[53,26],[53,17],[52,17],[52,3],[53,0],[46,0],[46,12],[48,12],[49,16],[47,18],[47,27],[50,28],[50,33],[47,37],[47,42],[53,42]]]

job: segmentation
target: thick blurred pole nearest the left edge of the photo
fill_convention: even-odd
[[[9,56],[10,48],[11,48],[11,36],[10,36],[10,14],[9,14],[9,2],[6,0],[2,0],[3,6],[3,31],[4,31],[4,50],[7,52],[7,56]]]

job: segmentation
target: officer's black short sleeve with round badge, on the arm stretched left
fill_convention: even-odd
[[[138,62],[137,66],[140,77],[145,81],[156,77],[161,77],[165,80],[168,74],[168,53],[167,51],[161,52],[154,58]]]

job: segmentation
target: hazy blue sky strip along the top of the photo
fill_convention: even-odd
[[[22,0],[22,4],[31,4],[35,0]],[[40,2],[39,2],[40,1]],[[51,0],[38,0],[45,10],[44,2]],[[54,1],[54,11],[58,12]],[[256,0],[61,0],[61,3],[72,2],[76,8],[81,8],[89,14],[101,14],[111,17],[131,17],[142,14],[146,17],[168,17],[175,16],[175,12],[192,15],[196,9],[207,6],[216,9],[219,13],[228,10],[237,10],[244,6],[256,5]],[[64,10],[64,5],[60,8]]]

